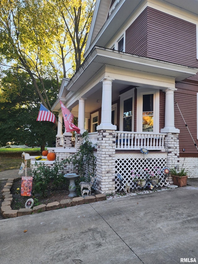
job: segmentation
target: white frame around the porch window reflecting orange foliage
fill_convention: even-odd
[[[159,133],[160,92],[156,89],[137,88],[137,131],[142,132],[143,95],[153,94],[153,132]]]

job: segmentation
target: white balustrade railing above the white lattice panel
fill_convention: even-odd
[[[116,149],[165,151],[165,133],[116,131]]]

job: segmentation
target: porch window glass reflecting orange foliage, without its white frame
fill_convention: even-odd
[[[153,94],[143,95],[142,132],[153,132]]]

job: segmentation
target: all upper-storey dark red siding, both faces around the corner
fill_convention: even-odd
[[[198,67],[196,24],[147,7],[126,30],[125,51]]]

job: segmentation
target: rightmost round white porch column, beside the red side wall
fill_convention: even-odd
[[[161,133],[179,133],[179,129],[174,126],[174,91],[176,90],[176,88],[165,90],[165,127],[161,129]]]

